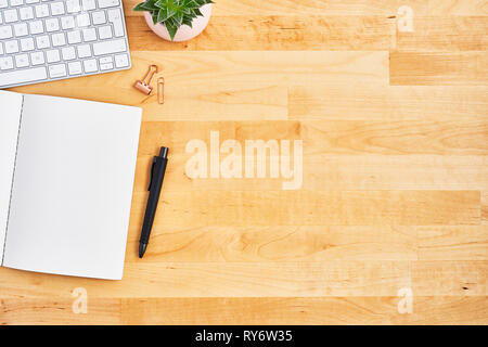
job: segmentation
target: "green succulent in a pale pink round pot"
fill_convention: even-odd
[[[145,0],[133,10],[143,11],[149,27],[168,41],[187,41],[208,24],[211,0]]]

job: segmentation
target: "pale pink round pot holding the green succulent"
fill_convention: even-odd
[[[196,18],[193,20],[192,23],[193,27],[189,27],[188,25],[180,26],[175,36],[175,40],[172,41],[175,42],[188,41],[198,36],[207,27],[208,21],[210,20],[211,15],[211,3],[203,5],[200,9],[200,11],[202,12],[203,16],[197,16]],[[160,23],[156,25],[153,23],[151,12],[144,12],[144,17],[151,30],[153,30],[160,38],[171,41],[171,38],[169,36],[168,29],[166,29],[166,26]]]

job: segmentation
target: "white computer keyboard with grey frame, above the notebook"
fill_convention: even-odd
[[[130,66],[121,0],[0,0],[0,88]]]

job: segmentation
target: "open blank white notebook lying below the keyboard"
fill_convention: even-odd
[[[141,110],[0,91],[0,256],[119,280]]]

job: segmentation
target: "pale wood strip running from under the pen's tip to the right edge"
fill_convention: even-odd
[[[155,229],[145,261],[488,260],[487,226]],[[140,261],[139,228],[126,261]]]

